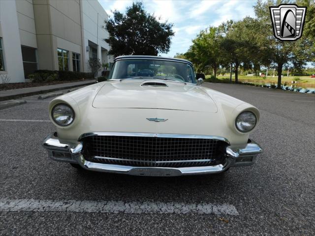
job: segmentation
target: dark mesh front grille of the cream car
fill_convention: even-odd
[[[215,139],[97,135],[83,142],[90,161],[141,167],[217,165],[227,145]]]

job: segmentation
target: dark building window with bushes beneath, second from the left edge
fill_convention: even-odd
[[[32,74],[34,73],[35,70],[37,70],[36,49],[21,46],[21,50],[22,50],[24,76],[25,78],[28,78],[29,74]]]

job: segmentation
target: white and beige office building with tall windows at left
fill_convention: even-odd
[[[107,19],[97,0],[0,0],[0,75],[25,82],[38,69],[89,72],[89,58],[110,62]]]

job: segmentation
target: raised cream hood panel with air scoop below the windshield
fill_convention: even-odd
[[[97,92],[93,107],[218,112],[215,102],[202,87],[163,80],[107,82]]]

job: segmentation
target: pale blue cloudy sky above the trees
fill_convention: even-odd
[[[98,0],[111,16],[111,10],[125,12],[133,0]],[[185,53],[198,32],[209,26],[219,26],[227,20],[254,16],[256,0],[142,0],[146,11],[174,24],[170,51],[161,56],[174,57]]]

